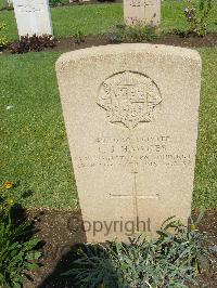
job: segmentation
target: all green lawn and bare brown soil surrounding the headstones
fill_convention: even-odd
[[[163,32],[184,30],[183,17],[177,11],[180,2],[163,3]],[[119,3],[52,9],[54,34],[61,40],[53,51],[0,56],[0,159],[1,179],[18,182],[18,202],[35,221],[37,235],[46,245],[41,263],[28,287],[72,287],[60,278],[69,267],[72,244],[85,240],[81,231],[68,226],[68,220],[80,218],[78,197],[72,171],[69,149],[62,117],[54,64],[61,52],[107,43],[106,34],[120,23]],[[212,14],[208,38],[180,39],[164,36],[162,43],[197,47],[203,61],[193,215],[206,209],[201,230],[210,233],[217,244],[217,4]],[[17,39],[12,11],[1,11],[10,41]],[[85,19],[85,21],[84,21]],[[88,36],[81,45],[69,37],[77,29]],[[88,42],[89,41],[89,42]],[[156,40],[156,42],[159,40]],[[192,42],[191,42],[192,41]],[[161,41],[159,41],[161,42]],[[206,47],[209,45],[209,47]],[[63,254],[66,252],[66,256]],[[216,272],[204,275],[206,287],[216,287]],[[204,284],[203,283],[203,284]],[[52,286],[53,285],[53,286]],[[202,286],[201,286],[202,287]]]

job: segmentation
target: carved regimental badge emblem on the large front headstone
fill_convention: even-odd
[[[162,102],[158,87],[149,77],[124,71],[107,78],[100,87],[97,104],[107,113],[111,123],[133,129],[150,122],[153,110]]]

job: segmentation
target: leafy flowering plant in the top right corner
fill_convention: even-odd
[[[189,23],[189,32],[204,37],[207,34],[208,16],[213,9],[213,0],[200,0],[196,5],[188,0],[189,5],[184,8],[184,15]]]

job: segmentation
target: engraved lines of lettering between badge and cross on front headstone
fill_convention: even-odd
[[[99,138],[92,143],[92,155],[76,156],[77,168],[94,168],[99,166],[126,168],[133,161],[143,170],[146,166],[175,167],[189,166],[193,156],[175,152],[173,139],[168,135],[148,138]]]

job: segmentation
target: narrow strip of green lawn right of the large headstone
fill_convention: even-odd
[[[203,60],[194,207],[217,207],[217,48],[199,49]]]

